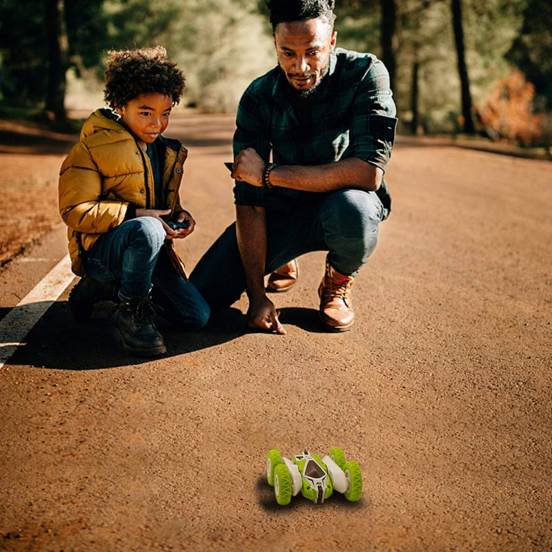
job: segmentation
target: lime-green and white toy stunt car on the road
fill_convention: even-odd
[[[334,490],[351,502],[359,500],[362,494],[360,466],[357,462],[346,462],[342,449],[337,446],[322,460],[308,451],[289,460],[272,449],[266,458],[266,478],[274,487],[277,503],[282,506],[289,504],[299,491],[315,504],[324,502]]]

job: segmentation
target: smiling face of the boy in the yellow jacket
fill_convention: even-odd
[[[143,94],[115,108],[128,130],[143,144],[151,144],[164,132],[171,110],[172,98],[159,92]]]

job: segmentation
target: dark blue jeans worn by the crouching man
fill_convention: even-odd
[[[353,275],[375,249],[382,216],[382,202],[375,192],[351,189],[313,194],[289,213],[267,208],[265,274],[304,253],[326,250],[334,268]],[[213,309],[226,308],[239,299],[246,279],[235,223],[199,260],[190,282]]]

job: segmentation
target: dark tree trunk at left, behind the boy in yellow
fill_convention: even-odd
[[[65,22],[64,0],[46,0],[46,32],[48,34],[48,87],[46,113],[63,119],[65,111],[66,70],[69,43]]]

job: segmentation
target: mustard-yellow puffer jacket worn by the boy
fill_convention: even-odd
[[[68,226],[72,271],[83,276],[83,253],[125,220],[130,204],[155,208],[155,189],[150,159],[110,110],[92,113],[80,138],[59,172],[59,213]],[[183,211],[179,188],[188,150],[177,140],[158,140],[165,146],[161,200],[175,219]],[[172,240],[165,246],[175,269],[186,277]]]

